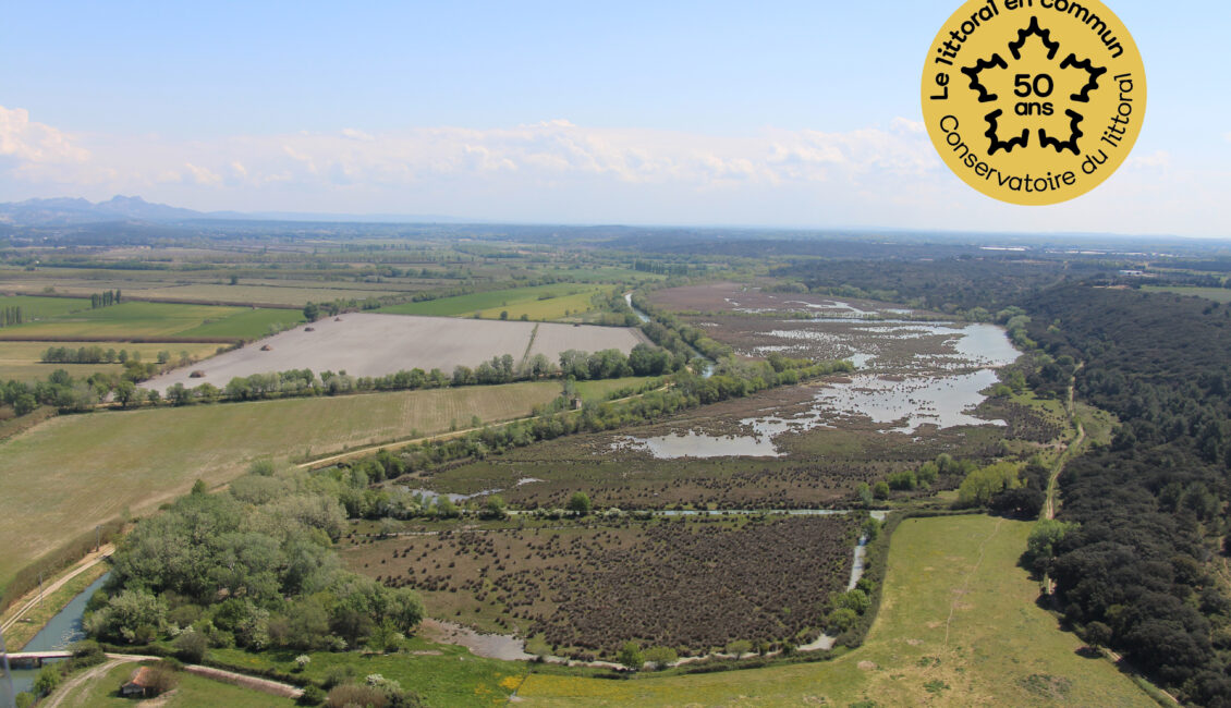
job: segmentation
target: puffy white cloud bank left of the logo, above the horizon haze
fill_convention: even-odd
[[[587,128],[564,118],[484,131],[438,127],[375,135],[343,128],[335,134],[299,132],[201,143],[102,135],[92,144],[92,160],[91,153],[71,148],[54,128],[30,123],[26,111],[6,111],[0,113],[4,118],[0,154],[17,154],[26,163],[48,155],[91,161],[91,167],[111,170],[117,191],[172,182],[393,187],[515,174],[531,182],[585,177],[710,191],[747,183],[826,182],[836,175],[879,170],[917,174],[936,163],[920,158],[927,143],[904,118],[895,119],[889,131],[768,131],[746,137]]]

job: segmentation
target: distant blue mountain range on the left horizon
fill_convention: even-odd
[[[277,222],[364,223],[465,223],[465,219],[430,214],[308,214],[298,212],[197,212],[146,202],[140,197],[114,196],[106,202],[55,197],[0,203],[0,223],[23,227],[92,224],[100,222],[187,222],[199,219]]]

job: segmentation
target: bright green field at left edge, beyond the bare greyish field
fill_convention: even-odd
[[[123,302],[4,328],[0,329],[0,339],[256,339],[268,334],[272,323],[294,324],[302,320],[303,315],[297,310]]]

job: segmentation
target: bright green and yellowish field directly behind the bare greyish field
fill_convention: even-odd
[[[590,298],[598,291],[596,286],[555,283],[532,288],[513,288],[473,293],[453,298],[441,298],[421,303],[404,303],[380,308],[378,312],[399,315],[480,316],[499,318],[507,310],[510,319],[523,314],[532,320],[554,320],[564,312],[577,313],[590,309]],[[550,296],[548,299],[540,297]]]

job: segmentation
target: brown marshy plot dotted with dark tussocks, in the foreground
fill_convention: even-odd
[[[815,639],[859,528],[851,516],[548,523],[352,538],[342,555],[420,591],[433,617],[538,638],[554,655],[613,658],[629,639],[696,655]]]

